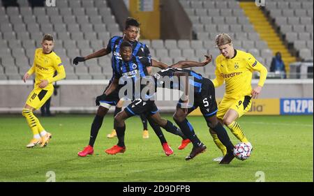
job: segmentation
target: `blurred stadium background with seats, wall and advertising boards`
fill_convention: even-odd
[[[140,42],[168,65],[214,59],[218,33],[235,49],[250,52],[269,70],[250,114],[313,114],[313,1],[311,0],[2,0],[0,1],[0,113],[19,113],[33,88],[22,76],[45,33],[66,68],[57,82],[52,112],[94,112],[94,99],[112,77],[111,54],[73,66],[75,56],[106,47],[122,36],[126,17],[141,24]],[[277,54],[277,55],[276,55]],[[214,79],[215,61],[192,68]],[[154,70],[156,72],[156,70]],[[259,75],[253,75],[253,87]],[[224,87],[216,91],[222,98]],[[160,91],[163,93],[163,91]],[[157,101],[172,112],[175,100]],[[195,113],[197,114],[197,112]]]

